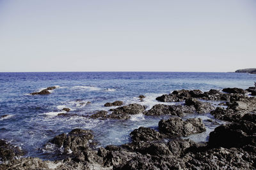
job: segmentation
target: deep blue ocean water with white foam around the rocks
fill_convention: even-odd
[[[51,149],[44,145],[49,139],[74,128],[92,129],[98,146],[122,145],[131,141],[129,133],[144,126],[157,129],[161,118],[133,115],[129,120],[93,120],[92,115],[107,102],[138,103],[152,108],[157,96],[173,90],[223,89],[253,86],[256,74],[246,73],[164,73],[164,72],[82,72],[82,73],[0,73],[0,139],[6,139],[26,150],[26,156],[54,159]],[[31,96],[29,93],[50,86],[58,88],[49,95]],[[143,102],[139,95],[146,96]],[[90,101],[90,104],[86,104]],[[175,104],[175,103],[165,103]],[[218,104],[218,103],[213,103]],[[76,117],[58,117],[63,108],[70,108]],[[111,107],[113,108],[113,107]],[[207,123],[209,113],[189,115],[201,117],[207,131],[189,136],[195,141],[207,141],[216,125]],[[186,118],[186,117],[185,117]],[[187,117],[188,118],[188,117]],[[220,124],[225,122],[220,122]]]

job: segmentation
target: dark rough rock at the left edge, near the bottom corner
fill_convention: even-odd
[[[21,155],[24,155],[24,152],[18,146],[13,146],[0,139],[0,161],[12,160]]]

